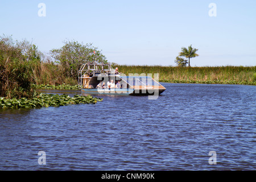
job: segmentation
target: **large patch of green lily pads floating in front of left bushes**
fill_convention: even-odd
[[[68,95],[58,94],[43,94],[40,93],[38,96],[31,99],[28,98],[4,98],[0,97],[0,109],[11,109],[11,108],[36,108],[36,107],[49,107],[49,106],[64,106],[69,104],[96,104],[97,101],[102,101],[101,98],[92,96],[79,96],[69,97]]]

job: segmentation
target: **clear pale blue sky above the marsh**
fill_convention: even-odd
[[[65,40],[92,43],[117,64],[176,65],[192,45],[192,67],[255,66],[256,1],[0,0],[3,34],[44,53]]]

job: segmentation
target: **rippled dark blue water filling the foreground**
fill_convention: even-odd
[[[256,169],[255,86],[163,85],[157,100],[100,96],[96,105],[0,110],[0,169]]]

